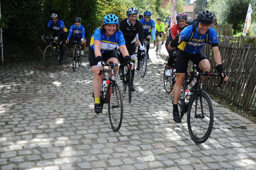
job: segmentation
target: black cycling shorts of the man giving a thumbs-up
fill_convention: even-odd
[[[190,54],[179,50],[176,61],[176,73],[186,73],[188,70],[188,62],[192,61],[196,66],[199,66],[200,61],[207,59],[202,51],[195,54]]]

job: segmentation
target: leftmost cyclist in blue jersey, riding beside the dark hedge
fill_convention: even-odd
[[[47,34],[51,27],[54,30],[54,33],[51,35],[52,37],[55,37],[54,41],[60,39],[60,59],[58,60],[58,62],[63,62],[63,45],[67,38],[68,29],[64,26],[64,22],[61,19],[58,19],[57,14],[53,13],[51,15],[51,20],[48,22],[47,27],[44,31],[44,35],[42,35],[42,39],[44,39],[44,36]]]

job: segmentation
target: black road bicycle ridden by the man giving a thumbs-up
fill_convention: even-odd
[[[189,134],[193,141],[196,143],[204,143],[211,135],[213,127],[213,105],[209,95],[202,90],[201,83],[205,81],[205,76],[217,76],[220,77],[220,81],[215,87],[220,86],[223,82],[223,77],[220,74],[210,73],[210,71],[200,70],[198,67],[193,67],[193,71],[190,73],[190,79],[186,84],[189,84],[194,79],[196,83],[193,88],[189,89],[192,92],[183,95],[179,98],[178,106],[180,112],[180,121],[185,112],[187,112],[187,124]],[[227,73],[225,72],[226,76]],[[185,103],[188,100],[188,103]]]

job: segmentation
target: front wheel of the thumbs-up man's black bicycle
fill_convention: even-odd
[[[196,112],[195,112],[196,111]],[[204,118],[196,118],[204,115]],[[191,96],[188,106],[188,130],[193,141],[196,143],[204,143],[211,135],[213,127],[213,106],[211,98],[204,91],[198,92]]]

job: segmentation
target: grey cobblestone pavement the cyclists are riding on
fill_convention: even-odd
[[[94,113],[87,57],[76,72],[71,58],[49,68],[43,61],[1,65],[0,169],[256,170],[256,126],[250,121],[213,102],[212,134],[200,145],[189,136],[186,115],[182,123],[173,121],[172,95],[162,83],[167,52],[156,57],[154,50],[145,77],[135,73],[131,103],[121,87],[118,132],[106,105],[104,113]]]

